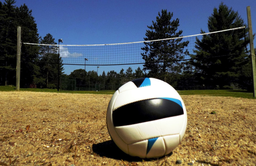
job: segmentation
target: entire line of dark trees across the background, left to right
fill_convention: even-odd
[[[25,4],[20,7],[14,4],[14,0],[0,2],[0,85],[15,85],[16,82],[17,26],[22,29],[21,42],[57,44],[52,34],[46,34],[43,38],[39,36],[32,11]],[[238,12],[223,3],[219,8],[213,9],[207,25],[209,32],[246,26]],[[162,10],[158,12],[156,21],[148,26],[144,40],[180,37],[183,31],[178,30],[178,27],[179,19],[173,19],[173,13]],[[205,31],[201,29],[201,34],[203,33]],[[181,41],[180,38],[145,42],[145,47],[141,48],[141,56],[145,60],[143,69],[137,68],[132,72],[129,67],[125,72],[124,69],[119,73],[103,72],[100,78],[154,77],[173,87],[184,89],[236,87],[252,90],[252,65],[246,48],[249,43],[247,27],[204,35],[201,40],[196,38],[196,46],[192,52],[185,49],[188,43],[189,41]],[[95,77],[94,71],[85,72],[83,69],[75,70],[70,75],[64,74],[57,46],[23,44],[21,50],[21,87],[36,84],[37,87],[56,88],[58,64],[61,77]],[[184,61],[185,56],[191,59]]]

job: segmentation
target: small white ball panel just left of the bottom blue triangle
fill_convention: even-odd
[[[128,145],[129,155],[146,158],[148,140],[136,142]]]

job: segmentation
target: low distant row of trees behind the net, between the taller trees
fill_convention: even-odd
[[[116,90],[126,82],[141,77],[146,77],[146,75],[140,67],[135,72],[131,67],[128,67],[126,71],[122,68],[119,73],[114,70],[107,73],[103,71],[99,76],[94,70],[87,72],[84,69],[76,69],[69,75],[62,75],[60,87],[62,90],[75,90],[74,86],[76,90]]]

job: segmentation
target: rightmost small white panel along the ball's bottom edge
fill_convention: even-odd
[[[180,134],[164,136],[165,154],[170,154],[180,144]]]

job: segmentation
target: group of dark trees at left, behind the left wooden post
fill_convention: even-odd
[[[0,2],[0,85],[16,83],[17,27],[21,26],[21,42],[57,44],[51,34],[39,37],[32,11],[26,4],[16,7],[14,0]],[[21,45],[20,87],[57,86],[58,48],[56,46]],[[60,57],[60,74],[63,65]]]

